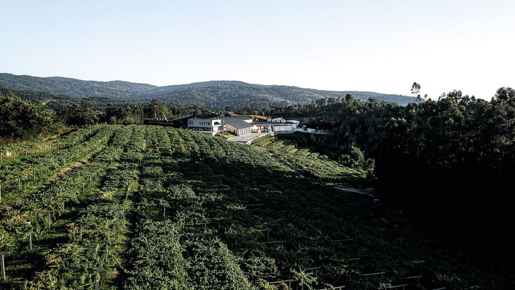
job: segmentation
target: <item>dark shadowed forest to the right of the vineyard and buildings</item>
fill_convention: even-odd
[[[515,170],[513,89],[500,88],[491,101],[453,91],[407,106],[348,96],[342,102],[275,108],[271,114],[328,128],[329,136],[285,138],[335,160],[352,147],[361,149],[374,159],[376,185],[385,199],[405,204],[438,227],[469,235],[475,229],[509,244],[490,225],[505,225],[510,218],[511,196],[504,188]]]

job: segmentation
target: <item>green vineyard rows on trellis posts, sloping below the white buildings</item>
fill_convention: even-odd
[[[470,267],[483,257],[453,251],[459,244],[435,251],[443,238],[399,210],[323,183],[361,172],[261,141],[258,150],[171,127],[96,125],[0,148],[0,288],[465,289],[514,280],[504,265]]]

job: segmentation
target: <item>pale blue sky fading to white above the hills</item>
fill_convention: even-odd
[[[0,72],[241,80],[489,100],[515,87],[515,1],[0,0]]]

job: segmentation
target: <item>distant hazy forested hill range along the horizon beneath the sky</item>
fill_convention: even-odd
[[[233,109],[243,107],[282,107],[295,103],[309,104],[323,98],[344,99],[347,94],[354,98],[396,102],[406,105],[414,98],[404,95],[382,94],[359,91],[325,91],[290,86],[254,85],[236,81],[211,81],[187,85],[156,87],[148,84],[122,82],[95,82],[64,77],[33,77],[0,73],[0,87],[11,90],[33,90],[53,94],[67,94],[80,97],[103,97],[113,99],[149,100],[157,98],[163,102],[186,106],[200,105],[217,109],[227,106]]]

